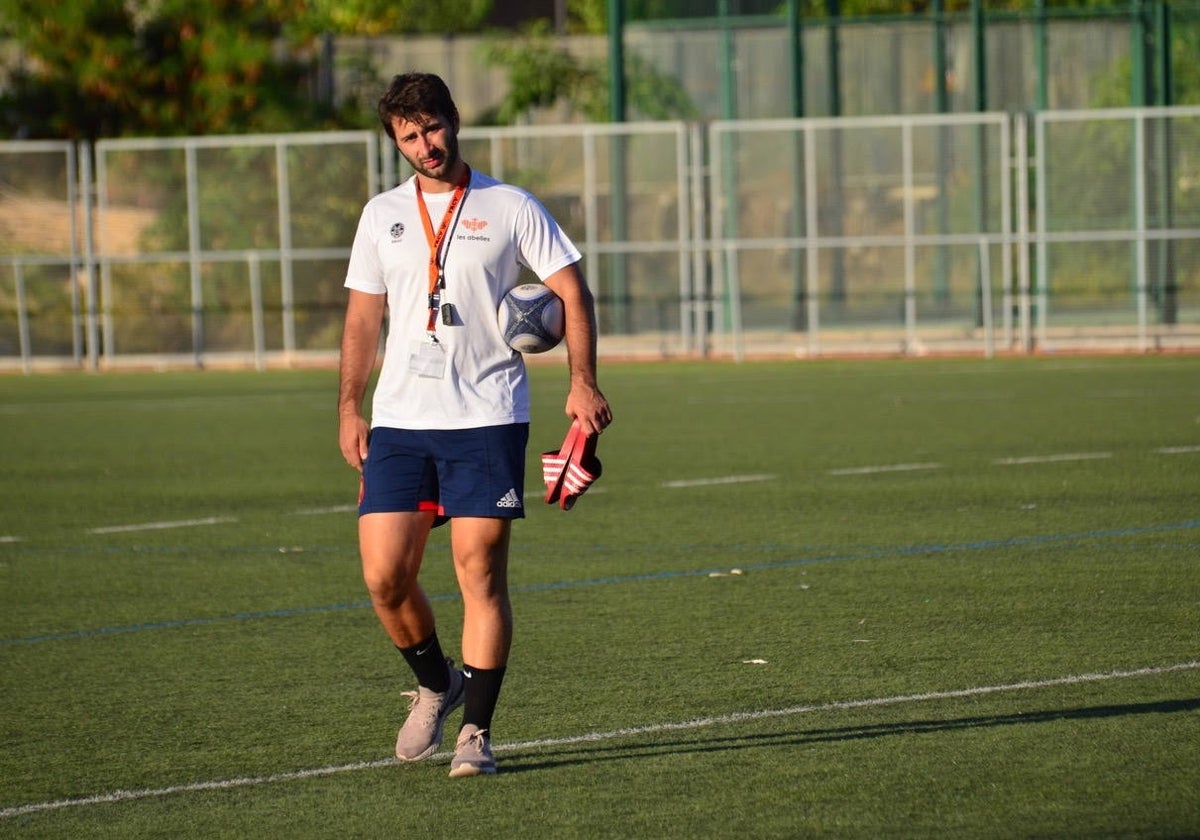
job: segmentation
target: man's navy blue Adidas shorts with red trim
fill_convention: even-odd
[[[524,516],[529,424],[450,431],[371,430],[359,516],[430,510],[452,516]]]

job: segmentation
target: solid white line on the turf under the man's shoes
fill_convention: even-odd
[[[634,726],[629,728],[610,730],[607,732],[586,732],[577,736],[565,736],[562,738],[542,738],[538,740],[523,740],[511,744],[493,744],[494,752],[512,752],[520,750],[544,750],[558,746],[572,746],[575,744],[594,744],[596,742],[616,740],[637,736],[658,734],[660,732],[678,732],[684,730],[700,730],[709,726],[722,726],[728,724],[743,724],[756,720],[768,720],[772,718],[788,718],[803,714],[815,714],[821,712],[844,712],[850,709],[868,709],[884,706],[904,706],[907,703],[922,703],[937,700],[956,700],[961,697],[979,697],[982,695],[1000,694],[1002,691],[1031,691],[1036,689],[1054,688],[1057,685],[1080,685],[1084,683],[1103,683],[1115,679],[1129,679],[1134,677],[1154,677],[1180,671],[1200,670],[1200,660],[1180,662],[1176,665],[1162,665],[1154,667],[1135,668],[1132,671],[1108,671],[1103,673],[1085,673],[1069,677],[1052,677],[1050,679],[1031,679],[1021,683],[1009,683],[1006,685],[980,685],[973,689],[954,689],[949,691],[929,691],[925,694],[896,695],[892,697],[870,697],[866,700],[845,700],[833,703],[817,703],[812,706],[792,706],[782,709],[762,709],[758,712],[734,712],[732,714],[716,715],[713,718],[697,718],[695,720],[683,720],[666,724],[650,724],[647,726]],[[449,752],[442,751],[434,758],[448,758]],[[134,802],[138,799],[152,799],[156,797],[174,796],[178,793],[197,793],[204,791],[227,791],[239,787],[253,787],[259,785],[271,785],[281,781],[299,781],[304,779],[316,779],[319,776],[331,776],[342,773],[356,773],[359,770],[371,770],[382,767],[390,767],[398,763],[395,758],[379,758],[376,761],[359,761],[352,764],[335,764],[330,767],[316,767],[307,770],[292,770],[289,773],[275,773],[266,776],[244,776],[240,779],[218,779],[214,781],[197,781],[187,785],[173,785],[170,787],[143,788],[139,791],[113,791],[92,797],[80,797],[78,799],[58,799],[54,802],[31,803],[29,805],[13,805],[0,809],[0,818],[19,817],[42,811],[56,811],[65,808],[80,808],[86,805],[106,805],[119,802]]]

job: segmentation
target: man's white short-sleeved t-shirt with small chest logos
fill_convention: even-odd
[[[452,192],[424,192],[438,230]],[[388,340],[371,425],[475,428],[529,421],[529,383],[520,353],[504,343],[496,311],[521,266],[545,280],[580,260],[546,209],[524,190],[472,172],[442,246],[454,323],[437,317],[442,376],[430,376],[430,246],[415,176],[367,202],[350,250],[346,288],[388,295]],[[422,350],[425,346],[425,350]],[[444,352],[444,356],[439,354]],[[420,361],[414,358],[421,356]],[[426,365],[425,374],[414,370]]]

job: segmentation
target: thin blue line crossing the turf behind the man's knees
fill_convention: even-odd
[[[1118,536],[1136,536],[1142,534],[1163,534],[1178,530],[1194,530],[1200,528],[1200,520],[1192,522],[1175,522],[1160,526],[1145,526],[1140,528],[1111,528],[1105,530],[1091,530],[1075,534],[1044,534],[1040,536],[1013,536],[1000,540],[973,540],[971,542],[928,544],[900,547],[872,548],[869,551],[854,551],[834,554],[818,554],[803,557],[792,560],[775,560],[770,563],[755,563],[743,565],[743,570],[764,571],[770,569],[790,569],[794,566],[817,565],[822,563],[842,563],[847,560],[871,560],[913,557],[919,554],[944,554],[959,551],[989,551],[992,548],[1012,548],[1020,546],[1038,546],[1073,541],[1104,540]],[[749,547],[749,546],[748,546]],[[762,550],[762,546],[754,546]],[[618,583],[638,583],[646,581],[666,581],[683,577],[708,577],[714,574],[727,574],[728,568],[689,569],[682,571],[652,571],[637,575],[613,575],[611,577],[593,577],[582,581],[554,581],[552,583],[529,583],[511,588],[514,594],[530,592],[552,592],[559,589],[580,589],[584,587],[612,586]],[[430,600],[446,601],[457,600],[458,593],[443,593],[430,595]],[[223,624],[228,622],[252,622],[265,618],[292,618],[295,616],[312,616],[320,613],[346,612],[350,610],[365,610],[371,606],[370,601],[358,601],[354,604],[332,604],[316,607],[296,607],[290,610],[266,610],[263,612],[240,612],[230,616],[212,616],[209,618],[181,618],[167,622],[148,622],[145,624],[128,624],[115,628],[100,628],[94,630],[72,630],[67,632],[43,634],[40,636],[23,636],[18,638],[0,638],[0,647],[12,647],[16,644],[37,644],[40,642],[56,642],[71,638],[95,638],[98,636],[114,636],[126,632],[144,632],[148,630],[174,630],[179,628],[205,626],[211,624]]]

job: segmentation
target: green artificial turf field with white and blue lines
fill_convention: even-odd
[[[334,372],[0,378],[0,836],[1200,835],[1200,359],[604,365],[570,512],[532,376],[466,780],[389,760]]]

